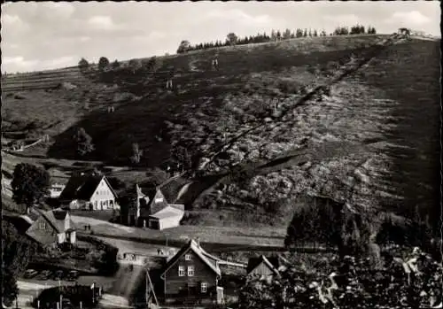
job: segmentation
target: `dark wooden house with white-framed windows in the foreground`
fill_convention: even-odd
[[[160,278],[164,283],[166,304],[222,303],[223,288],[219,259],[190,240],[167,261]]]

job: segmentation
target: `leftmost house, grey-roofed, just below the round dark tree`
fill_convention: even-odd
[[[76,242],[74,222],[71,220],[69,212],[59,209],[37,212],[40,215],[27,229],[27,236],[43,246],[51,247]]]

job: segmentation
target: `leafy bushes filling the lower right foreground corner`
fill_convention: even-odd
[[[418,269],[408,274],[411,259]],[[441,302],[442,267],[424,253],[401,259],[391,248],[378,269],[352,257],[332,260],[330,267],[332,274],[289,267],[273,281],[253,278],[239,292],[239,308],[424,308]]]

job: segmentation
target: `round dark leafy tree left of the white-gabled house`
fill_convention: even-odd
[[[14,202],[26,205],[28,210],[49,193],[50,175],[41,167],[20,163],[14,168],[11,185]]]

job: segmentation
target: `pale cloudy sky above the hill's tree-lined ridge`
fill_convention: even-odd
[[[14,2],[2,4],[2,72],[173,54],[182,40],[224,41],[272,29],[399,27],[440,36],[439,1]]]

